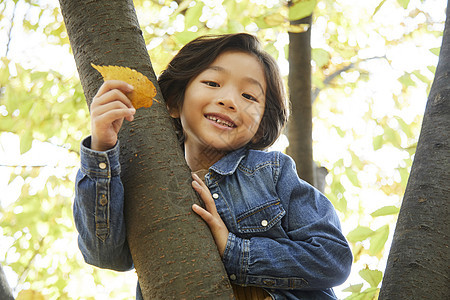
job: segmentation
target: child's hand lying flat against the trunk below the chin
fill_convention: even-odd
[[[219,250],[220,257],[222,257],[227,245],[228,228],[217,213],[216,203],[211,197],[211,192],[206,184],[196,174],[193,174],[192,178],[194,179],[192,187],[200,195],[206,206],[206,209],[204,209],[194,204],[192,205],[192,210],[208,224],[216,242],[217,249]]]

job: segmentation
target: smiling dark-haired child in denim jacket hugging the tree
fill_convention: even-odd
[[[352,263],[336,212],[298,178],[290,157],[261,151],[288,118],[275,60],[249,34],[201,37],[179,51],[158,82],[205,203],[192,209],[211,229],[236,298],[335,299],[332,287]],[[117,140],[135,113],[131,90],[107,81],[94,97],[74,203],[86,262],[118,271],[133,268]],[[99,175],[105,170],[112,176]],[[101,197],[109,205],[101,206]],[[109,228],[96,224],[101,218],[109,218]]]

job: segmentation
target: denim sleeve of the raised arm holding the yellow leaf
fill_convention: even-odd
[[[81,143],[81,167],[75,183],[73,215],[78,246],[88,264],[127,271],[133,268],[126,240],[124,191],[120,180],[118,144],[106,152]]]

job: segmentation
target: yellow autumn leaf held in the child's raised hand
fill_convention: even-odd
[[[122,80],[134,87],[129,96],[134,108],[150,107],[153,97],[156,96],[156,88],[153,83],[142,73],[136,70],[120,66],[91,66],[102,74],[103,80]]]

